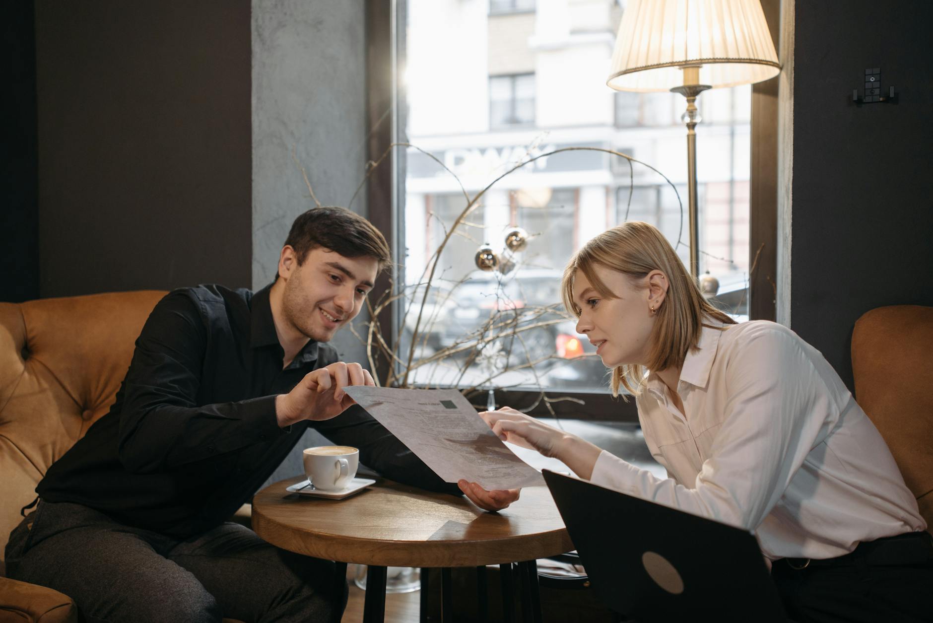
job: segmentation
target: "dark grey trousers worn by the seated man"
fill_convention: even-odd
[[[10,533],[6,561],[9,577],[63,592],[92,622],[340,621],[347,600],[333,562],[239,524],[179,541],[69,503],[40,501]]]

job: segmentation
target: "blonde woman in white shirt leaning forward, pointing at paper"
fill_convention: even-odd
[[[661,232],[630,222],[564,271],[564,305],[635,396],[668,478],[512,408],[482,413],[511,443],[580,478],[751,530],[790,616],[931,620],[933,547],[884,440],[829,363],[782,325],[707,303]],[[518,491],[466,495],[494,510]]]

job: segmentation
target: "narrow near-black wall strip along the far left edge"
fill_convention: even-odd
[[[0,301],[39,296],[32,0],[0,7]]]

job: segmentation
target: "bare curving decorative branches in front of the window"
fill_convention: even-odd
[[[378,159],[370,160],[367,163],[366,175],[360,182],[359,186],[356,187],[355,192],[348,203],[348,207],[352,207],[357,195],[362,190],[362,188],[365,187],[372,173],[383,163],[385,159],[387,159],[394,152],[394,150],[399,147],[414,149],[424,154],[429,159],[435,161],[445,172],[450,173],[459,186],[464,200],[466,201],[466,205],[459,213],[459,215],[453,219],[452,223],[444,222],[439,218],[438,215],[429,215],[430,218],[434,218],[438,221],[443,235],[433,252],[426,259],[425,266],[421,271],[421,275],[417,280],[417,283],[405,284],[403,278],[398,278],[398,276],[404,274],[404,272],[398,271],[396,275],[393,275],[393,277],[390,278],[389,289],[386,290],[386,292],[384,292],[378,300],[367,301],[369,320],[362,323],[363,327],[365,327],[365,331],[361,332],[357,329],[357,327],[351,326],[351,331],[355,337],[359,339],[366,348],[369,366],[374,373],[373,376],[377,384],[384,386],[408,387],[412,382],[416,382],[419,386],[430,387],[436,384],[433,381],[435,379],[436,372],[446,370],[447,372],[453,373],[453,378],[446,382],[437,381],[437,385],[440,386],[441,384],[453,384],[454,386],[461,387],[462,385],[466,384],[466,371],[473,367],[473,365],[477,362],[480,353],[490,344],[498,341],[500,345],[504,346],[503,357],[505,365],[502,367],[502,369],[490,370],[489,373],[485,374],[480,380],[477,380],[476,378],[471,379],[469,381],[469,386],[462,389],[464,395],[475,395],[476,393],[483,391],[482,388],[484,386],[489,384],[496,384],[497,380],[499,380],[507,372],[529,370],[534,384],[540,389],[540,394],[536,397],[535,404],[531,408],[535,408],[539,404],[543,403],[545,407],[548,408],[551,415],[555,415],[554,409],[551,407],[553,403],[561,401],[573,401],[578,404],[584,404],[582,400],[576,397],[550,397],[545,394],[545,391],[542,388],[542,380],[540,378],[539,371],[543,367],[550,366],[550,362],[566,360],[564,357],[561,357],[556,353],[546,352],[542,354],[540,349],[536,350],[526,341],[526,338],[532,335],[529,334],[529,331],[539,330],[551,325],[558,325],[566,322],[571,317],[561,309],[559,303],[546,306],[535,306],[526,305],[525,301],[522,301],[521,306],[516,305],[515,301],[511,300],[505,292],[501,276],[496,283],[494,292],[494,306],[490,310],[489,316],[484,318],[480,322],[479,326],[466,331],[465,335],[461,335],[456,339],[453,339],[452,343],[439,348],[433,353],[424,354],[428,348],[433,348],[433,345],[429,345],[428,339],[431,337],[434,328],[442,319],[441,314],[445,309],[447,309],[445,308],[445,305],[453,297],[456,288],[464,284],[467,280],[466,276],[460,279],[448,279],[445,276],[447,271],[452,267],[441,266],[441,257],[443,256],[444,249],[447,247],[453,236],[461,236],[466,238],[466,240],[479,243],[474,239],[473,236],[469,234],[469,232],[464,231],[464,227],[483,228],[484,226],[480,223],[468,220],[467,217],[480,207],[480,200],[487,193],[487,191],[494,187],[500,180],[502,180],[508,174],[514,173],[515,171],[535,162],[538,159],[548,158],[562,152],[598,151],[607,153],[611,156],[623,158],[628,162],[629,197],[625,211],[626,220],[628,219],[628,215],[631,210],[632,196],[634,193],[634,164],[640,164],[647,167],[650,171],[658,173],[661,178],[663,178],[663,180],[674,189],[675,197],[680,206],[681,224],[675,244],[676,247],[682,243],[681,240],[683,237],[684,227],[684,207],[683,201],[681,201],[680,194],[677,191],[675,184],[669,178],[667,178],[667,176],[646,162],[643,162],[639,159],[634,159],[629,155],[612,149],[583,146],[561,147],[558,149],[552,149],[548,152],[540,153],[536,156],[532,156],[532,152],[536,150],[536,145],[532,145],[529,146],[528,151],[525,153],[525,156],[521,161],[514,163],[512,166],[509,166],[505,173],[499,174],[492,182],[490,182],[485,187],[482,187],[479,192],[473,196],[470,196],[469,192],[466,191],[466,187],[464,187],[457,175],[453,173],[453,171],[435,155],[425,151],[417,145],[411,145],[410,143],[394,143],[389,145]],[[296,163],[298,162],[294,149],[292,151],[292,158],[295,159]],[[314,196],[313,188],[307,173],[303,167],[300,167],[300,165],[299,168],[313,201],[319,206],[320,202],[317,201],[317,198]],[[520,263],[520,265],[516,266],[514,270],[522,270],[522,267],[532,266],[534,265],[530,263]],[[443,289],[446,289],[446,292],[444,292],[443,289],[439,290],[439,284],[445,284]],[[447,284],[450,284],[450,286],[447,287]],[[438,290],[438,293],[434,295],[434,302],[430,303],[433,304],[434,307],[428,309],[432,290]],[[403,307],[400,310],[399,315],[401,317],[399,319],[398,326],[394,327],[396,329],[395,339],[390,342],[386,339],[383,327],[379,322],[379,316],[383,310],[393,304],[400,304]],[[414,316],[413,324],[409,323],[410,314]],[[406,331],[411,331],[411,340],[410,343],[407,343],[407,346],[403,347],[403,337],[405,337]],[[435,344],[437,344],[437,342],[435,342]],[[407,350],[407,353],[400,353],[400,350],[403,348]],[[423,354],[417,354],[419,353],[419,349]],[[466,354],[465,358],[464,354]],[[591,357],[594,355],[583,356]],[[384,358],[388,364],[382,379],[378,378],[379,375],[376,374],[376,363],[377,359],[380,357]],[[417,381],[415,381],[415,377],[413,375],[416,370],[421,370],[421,372],[418,373]],[[451,383],[451,381],[453,381],[453,383]],[[525,382],[527,381],[522,381],[519,384],[523,384]],[[497,386],[505,387],[507,385],[503,383],[497,383]]]

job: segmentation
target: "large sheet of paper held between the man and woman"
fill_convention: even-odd
[[[446,482],[466,478],[488,491],[544,484],[456,390],[343,389]]]

